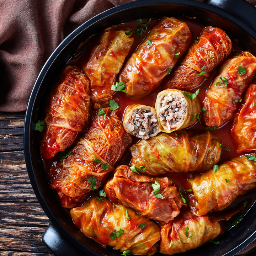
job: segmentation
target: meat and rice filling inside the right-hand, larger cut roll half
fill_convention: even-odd
[[[161,100],[159,120],[163,122],[169,130],[178,129],[181,126],[187,113],[187,103],[182,94],[170,92]]]

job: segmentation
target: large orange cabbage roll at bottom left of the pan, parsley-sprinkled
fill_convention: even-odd
[[[126,217],[126,211],[130,220]],[[106,198],[90,199],[82,207],[70,211],[75,225],[88,238],[115,250],[130,250],[134,255],[154,255],[160,228],[151,220],[136,214],[132,209],[113,204]],[[138,228],[140,223],[145,227]],[[121,235],[118,236],[118,231]]]

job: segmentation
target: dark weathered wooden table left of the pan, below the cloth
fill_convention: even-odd
[[[25,112],[0,113],[0,255],[53,256],[42,242],[49,219],[27,174],[24,118]]]

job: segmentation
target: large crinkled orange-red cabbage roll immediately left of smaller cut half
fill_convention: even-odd
[[[70,149],[72,152],[64,158],[63,164],[57,167],[57,163],[53,162],[50,169],[50,187],[57,190],[63,207],[79,206],[86,193],[102,186],[114,170],[113,165],[132,143],[116,111],[110,113],[109,108],[103,110],[106,117],[104,114],[97,115],[88,132]]]

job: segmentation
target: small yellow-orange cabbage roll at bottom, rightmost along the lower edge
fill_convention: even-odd
[[[178,254],[205,244],[223,234],[219,222],[211,222],[207,215],[195,216],[183,212],[161,228],[160,253]]]

